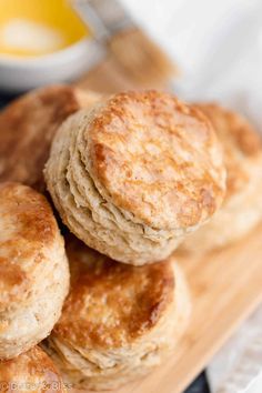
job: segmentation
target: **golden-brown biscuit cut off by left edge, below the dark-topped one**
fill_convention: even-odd
[[[0,360],[43,340],[69,289],[64,241],[46,198],[0,184]]]

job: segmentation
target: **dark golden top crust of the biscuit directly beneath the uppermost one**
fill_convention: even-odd
[[[132,343],[154,329],[174,301],[171,261],[134,268],[77,240],[67,251],[71,290],[53,335],[73,347]]]

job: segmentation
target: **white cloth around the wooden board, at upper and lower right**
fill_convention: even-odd
[[[179,97],[215,100],[262,132],[262,0],[122,0],[179,64]],[[211,362],[213,393],[262,392],[262,308]]]

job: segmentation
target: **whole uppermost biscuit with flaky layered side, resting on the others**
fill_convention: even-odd
[[[219,209],[225,171],[208,119],[155,92],[115,94],[59,129],[46,181],[87,245],[130,264],[165,259]]]

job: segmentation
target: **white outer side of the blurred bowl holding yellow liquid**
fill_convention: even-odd
[[[0,89],[22,92],[43,84],[71,81],[88,71],[102,56],[103,49],[90,38],[36,58],[0,56]]]

